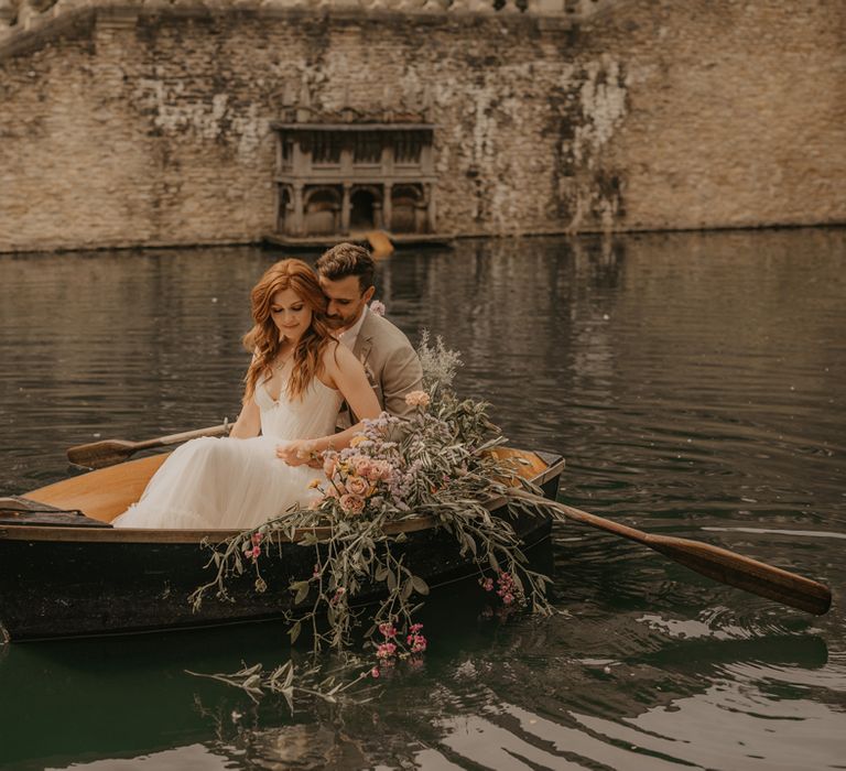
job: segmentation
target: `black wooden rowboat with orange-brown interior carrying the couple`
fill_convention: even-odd
[[[520,473],[554,500],[560,456],[510,450]],[[166,455],[155,455],[66,479],[25,496],[0,498],[0,636],[7,640],[101,636],[216,626],[281,617],[292,608],[292,578],[311,575],[314,552],[288,540],[282,558],[265,561],[268,590],[257,594],[250,572],[229,584],[235,602],[209,594],[194,612],[188,595],[209,579],[209,552],[236,531],[116,529],[111,520],[137,501]],[[505,501],[490,504],[507,517]],[[509,519],[527,549],[547,539],[551,519]],[[432,518],[398,522],[405,564],[432,588],[478,575],[470,558]],[[362,593],[362,602],[377,598]]]

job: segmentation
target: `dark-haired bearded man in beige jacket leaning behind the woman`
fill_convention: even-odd
[[[329,301],[329,323],[365,366],[379,404],[392,415],[410,415],[414,408],[405,403],[405,394],[423,388],[423,370],[409,338],[368,307],[376,292],[373,258],[362,247],[338,243],[314,267]],[[338,425],[346,428],[357,422],[344,404]]]

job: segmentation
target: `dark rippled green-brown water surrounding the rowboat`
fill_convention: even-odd
[[[278,257],[0,256],[0,493],[68,445],[231,420]],[[846,768],[844,276],[844,230],[525,239],[401,253],[378,293],[514,444],[567,457],[563,499],[823,580],[827,616],[561,525],[561,616],[430,604],[423,666],[367,705],[292,717],[184,674],[283,661],[273,625],[0,648],[0,765]]]

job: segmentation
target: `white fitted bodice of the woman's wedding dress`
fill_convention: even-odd
[[[343,401],[340,392],[313,378],[301,397],[290,399],[283,383],[279,399],[268,392],[264,381],[256,387],[261,414],[261,433],[279,439],[312,439],[335,433]]]

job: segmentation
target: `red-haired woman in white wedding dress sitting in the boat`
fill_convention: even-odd
[[[230,436],[178,447],[116,528],[254,528],[318,495],[308,486],[323,474],[307,465],[313,454],[346,447],[361,427],[334,433],[341,401],[362,419],[379,415],[362,365],[332,336],[305,262],[276,262],[250,298],[254,326],[243,343],[254,355]]]

